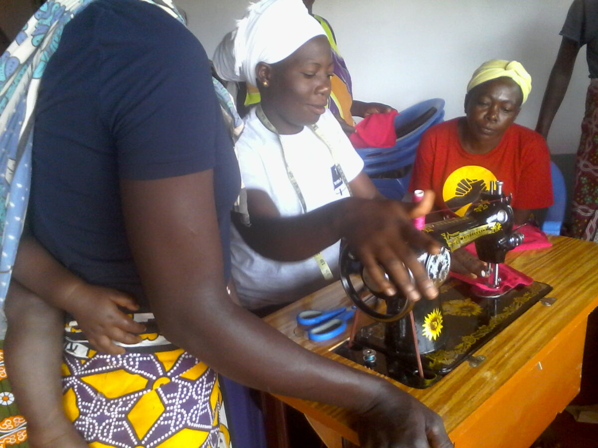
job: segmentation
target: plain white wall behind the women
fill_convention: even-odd
[[[432,97],[446,118],[462,115],[471,73],[488,59],[515,59],[532,75],[518,123],[534,128],[571,0],[317,0],[334,27],[354,96],[401,110]],[[246,0],[178,0],[211,56],[242,17]],[[276,36],[273,36],[276,38]],[[548,138],[555,154],[575,152],[587,88],[585,50]]]

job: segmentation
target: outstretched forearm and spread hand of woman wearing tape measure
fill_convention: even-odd
[[[374,195],[374,192],[371,192]],[[350,197],[331,202],[309,213],[280,217],[266,192],[248,191],[251,225],[240,217],[233,220],[243,240],[261,255],[274,260],[304,260],[344,238],[353,253],[370,271],[379,290],[393,295],[396,285],[411,300],[435,297],[437,290],[416,253],[435,251],[438,244],[412,224],[416,216],[427,213],[434,202],[428,192],[418,204],[403,204],[388,199]],[[386,279],[380,266],[392,278]],[[416,280],[413,284],[409,269]]]

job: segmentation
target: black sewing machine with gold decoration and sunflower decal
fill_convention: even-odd
[[[438,254],[419,256],[440,290],[434,300],[421,299],[413,304],[400,294],[380,294],[363,265],[344,247],[341,283],[374,323],[359,329],[353,340],[334,352],[407,386],[426,388],[471,358],[474,351],[548,294],[552,288],[535,281],[512,289],[502,284],[499,263],[523,241],[523,235],[513,230],[510,203],[511,198],[502,192],[502,182],[496,181],[465,216],[423,228],[442,245]],[[454,278],[446,281],[451,252],[472,241],[478,257],[489,265],[484,284],[472,286]],[[379,310],[381,299],[386,303],[385,312]]]

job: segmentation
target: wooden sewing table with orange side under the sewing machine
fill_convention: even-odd
[[[553,286],[554,305],[536,303],[493,337],[474,353],[487,358],[478,367],[464,362],[428,389],[389,380],[438,412],[459,448],[528,448],[579,392],[587,316],[598,306],[598,244],[550,240],[550,248],[509,253],[507,263]],[[307,349],[373,373],[330,351],[347,334],[316,343],[297,329],[298,312],[343,305],[352,303],[337,282],[264,320]],[[341,437],[358,443],[346,410],[277,398],[303,412],[329,448]]]

